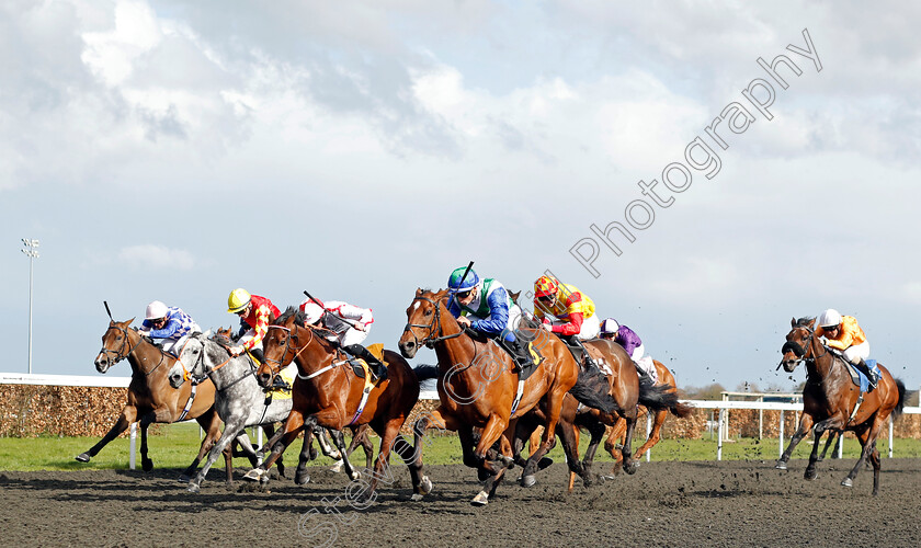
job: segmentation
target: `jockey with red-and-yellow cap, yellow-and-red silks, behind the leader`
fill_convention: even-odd
[[[534,317],[570,349],[584,351],[581,341],[599,335],[600,323],[592,299],[575,285],[561,284],[553,276],[541,276],[534,282]],[[592,363],[588,352],[584,357]]]

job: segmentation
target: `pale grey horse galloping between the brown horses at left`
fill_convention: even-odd
[[[266,406],[266,395],[253,376],[255,364],[243,354],[231,357],[221,344],[198,334],[189,339],[175,364],[170,368],[170,385],[174,388],[185,381],[186,372],[193,377],[211,377],[215,386],[214,404],[218,416],[224,421],[224,435],[212,447],[205,466],[189,482],[189,491],[198,492],[208,469],[224,447],[247,426],[257,426],[284,422],[291,412],[292,400],[271,399]],[[252,447],[243,447],[252,452]],[[309,460],[309,447],[305,444],[300,452],[300,463],[295,475],[296,483],[307,483],[310,477],[306,472]]]

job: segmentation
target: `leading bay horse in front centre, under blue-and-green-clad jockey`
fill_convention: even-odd
[[[605,383],[601,383],[604,388],[598,392],[589,388],[566,344],[537,326],[516,332],[519,336],[534,341],[533,346],[538,349],[543,361],[525,381],[521,400],[512,409],[519,385],[519,375],[513,372],[514,362],[494,341],[462,329],[447,310],[447,299],[446,289],[437,293],[417,289],[406,310],[407,324],[399,341],[403,356],[413,357],[424,345],[435,350],[439,361],[440,404],[413,426],[414,455],[410,465],[413,499],[420,500],[432,489],[431,480],[422,473],[421,438],[429,426],[435,425],[457,432],[464,464],[477,468],[484,480],[482,489],[471,503],[485,505],[514,463],[512,439],[516,419],[544,402],[547,427],[541,446],[528,458],[523,472],[525,478],[531,478],[523,483],[533,484],[541,459],[555,443],[554,431],[567,392],[576,388],[581,401],[606,412],[613,412],[616,402],[606,393]],[[579,380],[582,383],[577,386]],[[475,429],[480,430],[476,443]],[[496,442],[500,442],[500,450],[497,458],[490,460],[487,454]],[[582,473],[578,460],[570,460],[569,466]]]

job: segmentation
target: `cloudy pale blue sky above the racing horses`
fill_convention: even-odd
[[[96,375],[103,300],[216,328],[238,286],[395,347],[474,260],[577,285],[682,386],[792,387],[791,317],[834,307],[918,387],[921,8],[885,3],[0,1],[0,368],[34,238],[35,373]]]

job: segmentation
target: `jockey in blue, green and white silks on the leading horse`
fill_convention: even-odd
[[[473,269],[461,266],[448,276],[447,288],[451,295],[447,310],[462,328],[481,333],[507,349],[514,359],[515,372],[534,365],[515,336],[521,308],[512,302],[509,292],[498,279],[480,279]]]

